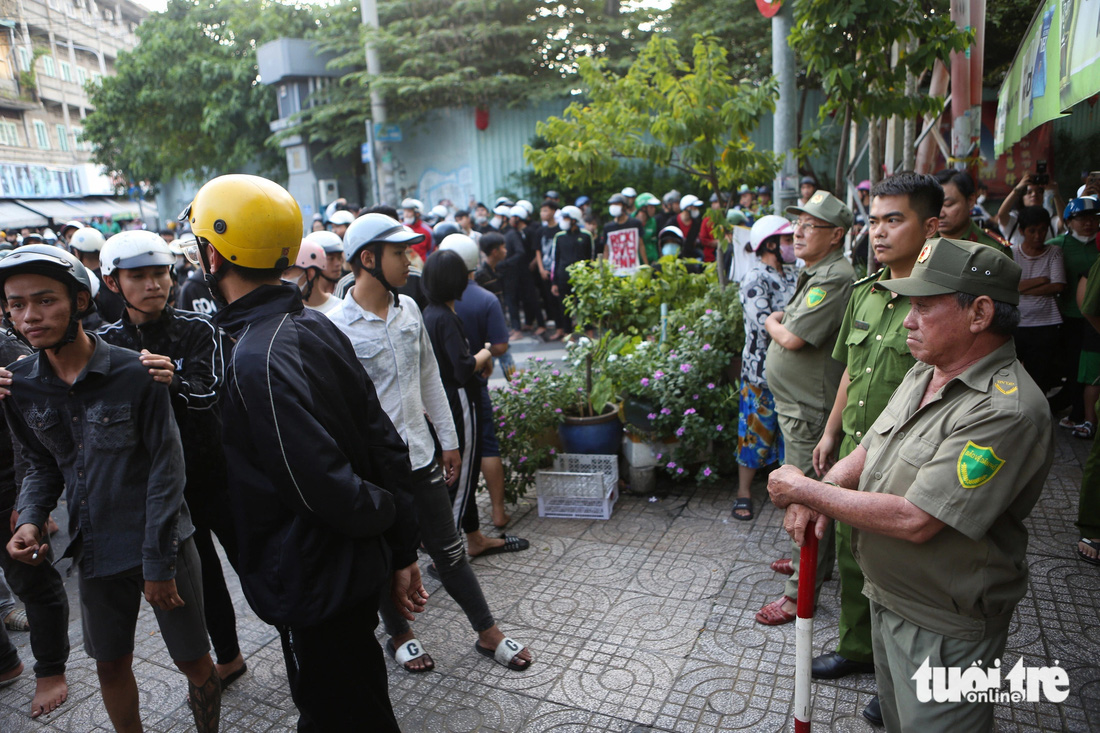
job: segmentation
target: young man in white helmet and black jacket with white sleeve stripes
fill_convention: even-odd
[[[237,564],[237,533],[229,512],[226,452],[221,447],[218,389],[223,379],[221,335],[210,318],[167,305],[172,265],[164,239],[131,230],[114,234],[100,252],[103,286],[125,306],[122,318],[98,333],[108,343],[141,352],[153,379],[168,385],[172,409],[184,444],[187,484],[184,499],[195,524],[195,547],[202,562],[202,604],[222,685],[244,674],[237,638],[237,614],[211,535]]]

